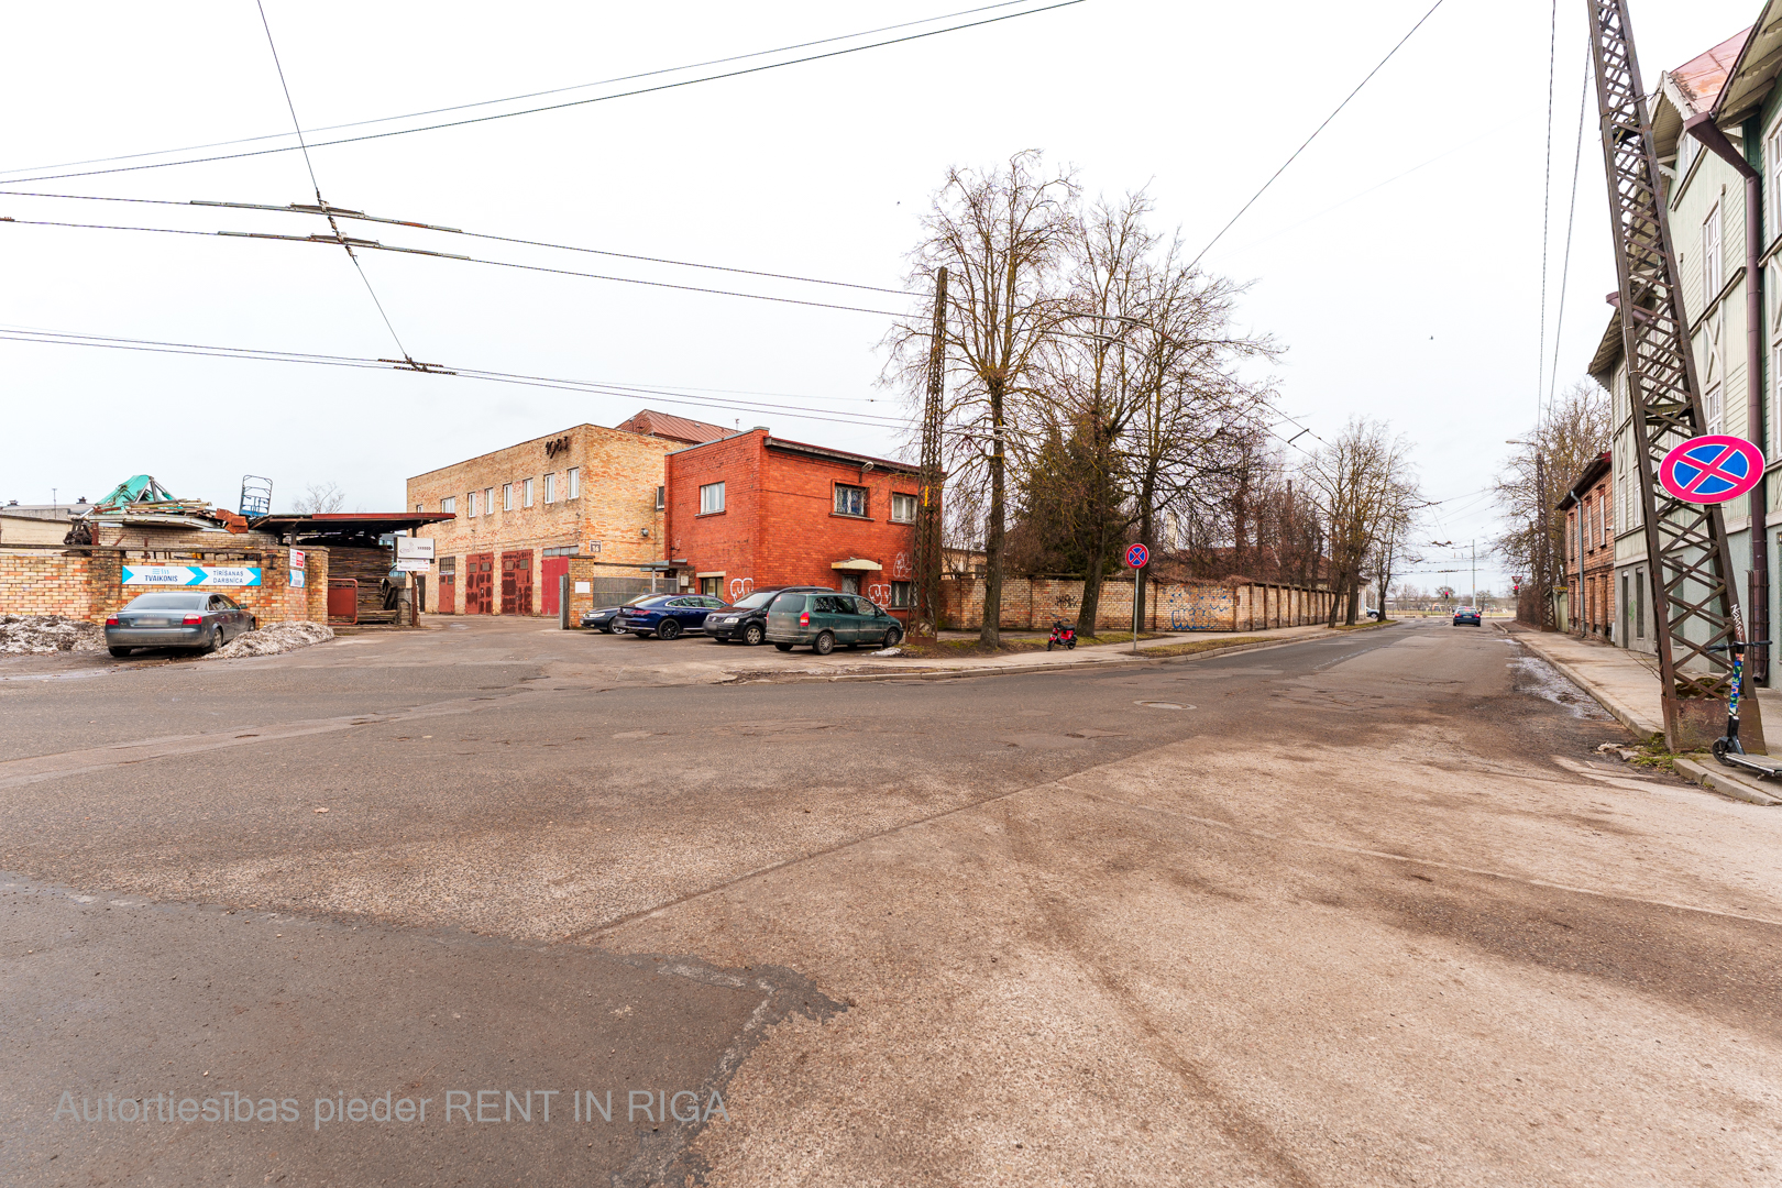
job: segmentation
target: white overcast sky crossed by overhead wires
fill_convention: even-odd
[[[1431,0],[1331,5],[1083,0],[807,64],[563,110],[315,148],[339,207],[463,230],[896,287],[916,217],[950,164],[1023,148],[1089,194],[1148,187],[1157,223],[1199,249]],[[615,94],[944,25],[570,91],[364,135]],[[574,87],[838,37],[971,7],[928,4],[431,4],[266,0],[305,128]],[[1647,78],[1748,25],[1755,0],[1634,0]],[[1417,445],[1447,500],[1431,540],[1493,534],[1484,488],[1536,415],[1547,171],[1547,4],[1445,0],[1399,55],[1206,255],[1251,283],[1244,326],[1287,349],[1285,413],[1329,436],[1351,415]],[[1586,64],[1584,5],[1559,5],[1547,351]],[[312,201],[299,153],[21,183],[290,144],[84,162],[287,134],[251,0],[25,5],[0,43],[0,191]],[[1559,385],[1602,335],[1614,287],[1602,155],[1579,171]],[[0,196],[0,216],[192,232],[326,232],[312,216]],[[385,244],[866,310],[900,297],[346,223]],[[235,506],[242,474],[274,506],[333,481],[347,508],[396,509],[403,481],[643,406],[843,449],[889,452],[902,413],[875,387],[887,319],[364,251],[396,335],[446,367],[602,381],[606,395],[399,370],[0,342],[0,500],[100,497],[130,474]],[[397,354],[339,248],[0,223],[0,333],[53,330],[355,358]],[[695,403],[699,401],[699,403]],[[741,408],[789,404],[793,410]],[[804,411],[809,410],[809,411]],[[822,420],[830,415],[839,420]],[[1288,435],[1296,429],[1287,427]],[[1310,438],[1301,438],[1301,445]],[[1426,570],[1452,568],[1443,549]],[[1418,579],[1436,584],[1438,575]],[[1449,577],[1449,581],[1454,581]],[[1456,586],[1467,590],[1461,574]],[[1481,563],[1481,586],[1500,584]]]

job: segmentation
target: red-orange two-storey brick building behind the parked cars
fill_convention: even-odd
[[[665,565],[734,602],[834,586],[909,614],[916,467],[750,429],[668,454]]]

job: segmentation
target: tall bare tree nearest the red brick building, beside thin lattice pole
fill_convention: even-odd
[[[1071,173],[1048,171],[1034,150],[991,173],[953,167],[923,219],[925,239],[911,251],[912,289],[932,290],[936,271],[948,269],[950,468],[955,488],[987,488],[978,639],[991,647],[1001,641],[1009,451],[1021,427],[1012,415],[1019,397],[1034,392],[1039,349],[1059,321],[1059,265],[1075,205]],[[886,337],[886,379],[918,403],[930,326],[932,317],[912,317]]]

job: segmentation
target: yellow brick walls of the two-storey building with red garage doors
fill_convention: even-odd
[[[458,566],[451,606],[437,602],[429,604],[429,611],[463,613],[463,557],[470,554],[494,552],[499,565],[501,554],[531,552],[533,614],[544,611],[540,574],[545,549],[576,545],[597,561],[617,565],[659,559],[663,533],[656,488],[666,481],[663,458],[679,447],[679,442],[584,424],[408,479],[410,509],[440,511],[446,499],[456,500],[456,520],[421,529],[422,536],[433,538],[429,591],[438,590],[438,557],[454,557]],[[568,497],[570,468],[581,477],[576,499]],[[556,488],[551,502],[545,502],[545,476],[552,476]],[[531,506],[524,497],[527,479],[533,483]],[[513,488],[511,509],[503,500],[503,486],[508,484]],[[472,492],[478,500],[474,517],[469,515]],[[485,500],[485,492],[494,495]],[[592,552],[595,543],[601,547],[597,554]],[[501,613],[499,590],[494,613]]]

